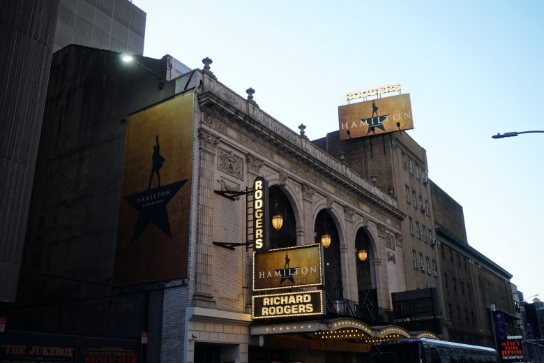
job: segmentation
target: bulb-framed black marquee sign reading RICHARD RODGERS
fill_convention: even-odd
[[[322,290],[253,296],[252,303],[253,319],[324,314]]]

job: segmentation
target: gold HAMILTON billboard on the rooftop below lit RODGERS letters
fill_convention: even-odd
[[[414,128],[409,94],[338,107],[340,140]]]

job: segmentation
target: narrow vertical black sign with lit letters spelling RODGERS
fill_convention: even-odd
[[[269,250],[269,182],[264,177],[255,178],[253,184],[253,238],[255,253]]]

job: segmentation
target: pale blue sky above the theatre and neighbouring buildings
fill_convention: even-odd
[[[460,203],[474,247],[542,294],[544,1],[133,0],[144,55],[211,71],[310,140],[349,91],[400,83],[429,177]],[[531,302],[531,298],[527,299]]]

